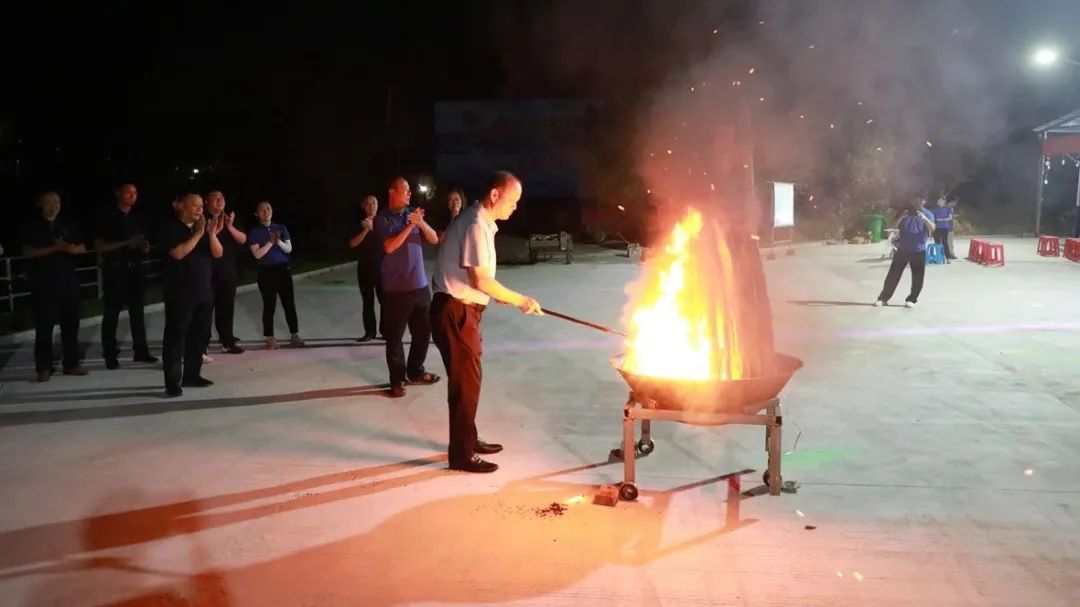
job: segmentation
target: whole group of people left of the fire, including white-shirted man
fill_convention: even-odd
[[[514,306],[527,314],[541,314],[540,305],[507,288],[496,278],[496,221],[509,219],[522,195],[522,183],[505,172],[495,174],[476,203],[465,206],[461,190],[447,197],[449,221],[435,230],[423,208],[409,205],[411,188],[395,178],[379,208],[375,195],[364,198],[360,229],[349,239],[356,251],[356,283],[361,293],[363,335],[357,341],[381,338],[386,342],[389,373],[387,393],[406,395],[407,386],[430,386],[442,378],[426,368],[429,345],[434,341],[447,374],[450,468],[491,472],[498,466],[482,459],[502,450],[478,437],[475,418],[481,390],[481,319],[490,301]],[[121,310],[127,309],[132,360],[158,363],[147,339],[144,307],[146,264],[152,248],[161,252],[165,325],[161,366],[165,394],[180,396],[185,388],[204,388],[210,360],[212,327],[224,352],[244,349],[233,333],[238,262],[246,247],[258,268],[262,299],[262,337],[268,350],[279,348],[274,336],[278,301],[288,326],[288,343],[302,348],[293,287],[293,239],[288,228],[273,221],[273,207],[261,201],[256,221],[246,231],[235,213],[227,212],[225,194],[188,192],[173,201],[173,216],[151,233],[135,213],[138,191],[133,184],[116,190],[116,204],[98,218],[94,249],[102,267],[104,312],[102,352],[107,369],[119,369],[121,348],[117,328]],[[31,309],[35,318],[37,381],[56,373],[53,331],[60,327],[62,369],[84,376],[79,351],[80,284],[77,257],[87,253],[79,228],[60,215],[60,197],[45,192],[36,200],[39,214],[22,230],[27,258]],[[434,274],[429,280],[423,247],[437,246]],[[0,249],[2,255],[2,249]],[[378,310],[376,310],[378,301]],[[410,341],[406,355],[405,331]]]

